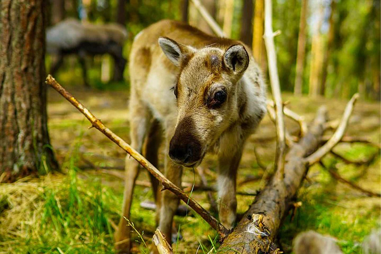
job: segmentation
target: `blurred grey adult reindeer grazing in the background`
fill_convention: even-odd
[[[77,55],[82,67],[84,84],[89,87],[85,56],[110,54],[115,62],[114,80],[123,80],[126,59],[123,45],[126,29],[119,24],[91,24],[69,18],[49,28],[46,34],[47,53],[56,55],[50,72],[54,75],[64,62],[64,56]]]

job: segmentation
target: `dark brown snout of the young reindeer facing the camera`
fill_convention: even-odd
[[[194,135],[194,122],[184,118],[175,130],[169,144],[169,157],[180,165],[193,166],[201,159],[201,143]]]

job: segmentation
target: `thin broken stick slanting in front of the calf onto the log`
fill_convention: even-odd
[[[217,221],[207,210],[202,208],[194,199],[188,196],[179,187],[174,185],[169,181],[158,169],[156,169],[149,161],[147,161],[141,154],[139,154],[135,149],[133,149],[129,144],[126,143],[122,138],[117,136],[109,128],[102,124],[102,122],[97,119],[87,108],[85,108],[81,103],[79,103],[70,93],[68,93],[51,75],[46,78],[46,83],[56,89],[66,100],[68,100],[75,108],[77,108],[85,117],[90,121],[90,123],[105,134],[111,141],[119,145],[123,150],[125,150],[129,155],[131,155],[137,162],[140,163],[145,169],[149,171],[163,186],[165,189],[172,191],[184,202],[188,203],[189,206],[198,213],[209,225],[215,229],[221,238],[225,238],[229,234],[227,230],[221,223]]]

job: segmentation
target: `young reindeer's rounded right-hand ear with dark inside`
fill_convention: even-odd
[[[243,73],[249,65],[249,54],[242,44],[231,46],[224,55],[224,64],[235,74]]]

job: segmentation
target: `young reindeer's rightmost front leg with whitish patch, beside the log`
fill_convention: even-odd
[[[236,179],[244,145],[244,141],[237,133],[234,131],[221,137],[218,153],[219,219],[222,225],[228,229],[233,228],[236,221]]]

